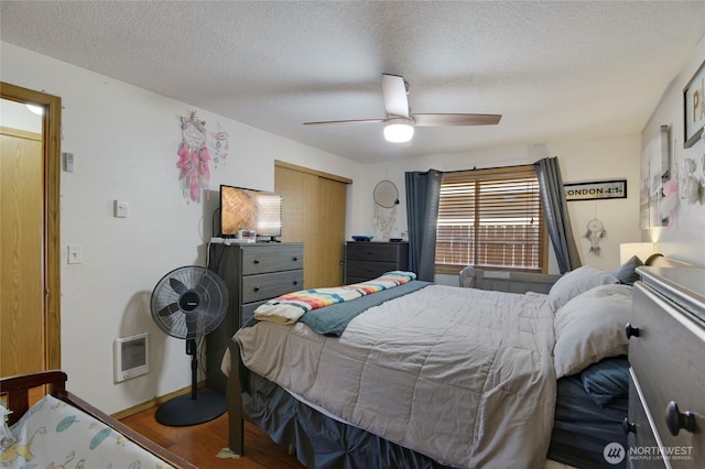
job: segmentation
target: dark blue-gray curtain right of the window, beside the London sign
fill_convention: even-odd
[[[544,157],[534,163],[541,192],[541,204],[561,273],[579,268],[581,254],[575,243],[558,159]]]

